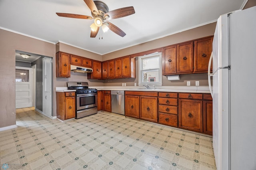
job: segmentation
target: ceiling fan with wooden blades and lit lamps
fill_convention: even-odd
[[[117,35],[124,37],[126,34],[120,28],[107,21],[108,19],[122,18],[135,13],[133,6],[119,8],[116,10],[108,11],[108,6],[101,1],[84,0],[86,5],[90,8],[92,16],[79,15],[79,14],[67,14],[67,13],[56,13],[58,16],[68,17],[68,18],[80,18],[86,20],[94,19],[94,23],[91,27],[91,38],[95,38],[98,34],[100,27],[102,27],[103,32],[110,29]]]

